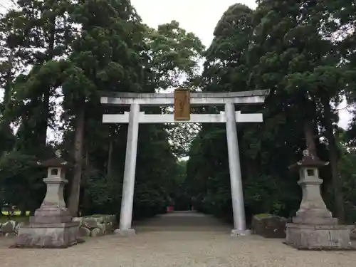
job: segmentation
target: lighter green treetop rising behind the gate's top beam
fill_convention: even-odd
[[[179,78],[192,82],[199,73],[204,46],[194,33],[187,33],[177,21],[145,32],[147,78],[155,90],[178,87]]]

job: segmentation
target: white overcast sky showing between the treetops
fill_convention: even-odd
[[[205,46],[209,46],[212,33],[221,15],[236,2],[256,8],[253,0],[131,0],[137,13],[144,23],[157,27],[172,20],[179,21],[180,26],[195,33]],[[4,6],[10,6],[10,0],[0,0],[0,13],[4,13]],[[1,98],[1,92],[0,92]],[[340,126],[347,127],[350,115],[345,108],[346,103],[340,105]]]

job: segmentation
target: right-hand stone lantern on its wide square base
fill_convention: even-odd
[[[308,150],[303,159],[290,168],[299,169],[298,184],[303,199],[293,217],[293,223],[286,226],[286,244],[304,249],[347,249],[350,248],[350,226],[337,224],[337,218],[328,210],[320,194],[318,167],[328,165]]]

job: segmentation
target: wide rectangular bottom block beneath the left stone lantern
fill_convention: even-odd
[[[28,224],[19,228],[16,248],[68,248],[78,243],[79,221]]]

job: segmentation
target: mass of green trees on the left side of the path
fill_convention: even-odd
[[[188,80],[197,75],[197,61],[204,48],[197,36],[179,28],[175,21],[158,29],[145,26],[130,1],[18,1],[17,4],[18,9],[10,11],[1,21],[1,41],[7,49],[1,51],[7,60],[1,62],[1,88],[9,88],[6,90],[9,98],[1,105],[0,152],[14,150],[2,162],[8,162],[12,155],[11,159],[25,164],[49,157],[54,148],[59,148],[64,157],[78,166],[78,155],[83,155],[82,166],[79,165],[79,171],[83,169],[79,173],[80,210],[84,214],[116,213],[121,201],[127,125],[103,125],[103,112],[123,110],[100,105],[100,91],[152,93],[178,85],[179,75],[186,75]],[[17,69],[18,59],[21,68],[31,69],[29,73],[18,75],[22,72]],[[58,123],[58,102],[63,109],[61,123]],[[83,120],[79,116],[82,110],[85,123],[84,135],[80,136],[78,120]],[[19,127],[15,144],[14,135],[8,130],[11,122]],[[63,133],[63,142],[46,147],[45,151],[38,147],[44,148],[43,133],[46,136],[48,126]],[[165,209],[169,194],[174,191],[169,183],[174,181],[177,169],[166,128],[155,125],[142,128],[139,140],[142,156],[137,158],[134,200],[137,218]],[[81,145],[75,147],[78,152],[75,156],[73,147],[78,140]],[[15,188],[11,182],[15,180],[10,177],[16,176],[16,188],[31,189],[26,194],[38,195],[41,203],[43,195],[36,194],[37,182],[33,181],[44,186],[42,169],[31,169],[32,165],[9,167],[5,163],[1,166],[0,188],[4,192],[1,198],[16,204],[20,201],[11,197]],[[72,187],[75,175],[78,177],[78,168],[70,169],[68,179]],[[28,187],[28,182],[33,182],[33,187]],[[39,203],[31,204],[31,208]]]

